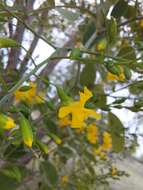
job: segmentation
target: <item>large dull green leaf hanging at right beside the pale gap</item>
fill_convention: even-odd
[[[112,137],[112,148],[115,152],[122,152],[124,150],[124,126],[121,123],[120,119],[109,112],[109,130]]]

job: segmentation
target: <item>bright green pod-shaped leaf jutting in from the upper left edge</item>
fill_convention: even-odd
[[[20,47],[20,44],[10,38],[0,38],[0,48]]]

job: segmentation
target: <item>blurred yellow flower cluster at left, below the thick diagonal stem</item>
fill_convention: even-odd
[[[40,104],[44,102],[44,93],[37,92],[37,85],[33,82],[29,83],[29,89],[22,91],[20,89],[16,90],[15,93],[16,102],[25,101],[29,104]]]

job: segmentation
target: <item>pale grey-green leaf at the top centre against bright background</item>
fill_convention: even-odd
[[[67,9],[63,9],[63,8],[56,8],[56,10],[66,19],[68,19],[69,21],[75,21],[78,19],[78,17],[80,16],[80,12],[73,12]]]

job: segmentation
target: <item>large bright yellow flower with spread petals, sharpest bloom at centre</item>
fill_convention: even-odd
[[[92,93],[84,87],[84,93],[80,92],[80,100],[71,102],[67,106],[63,106],[59,109],[59,118],[64,118],[71,114],[71,127],[72,128],[83,128],[85,124],[85,119],[88,117],[93,117],[100,119],[100,114],[92,109],[84,108],[85,103],[89,98],[92,97]]]

